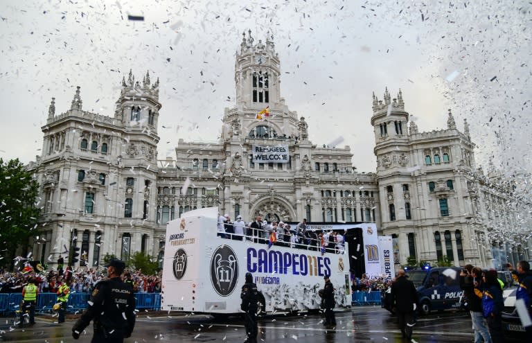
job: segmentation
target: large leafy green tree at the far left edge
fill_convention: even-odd
[[[13,267],[17,247],[28,248],[29,238],[37,227],[39,184],[19,159],[7,163],[0,159],[0,265]],[[42,206],[42,203],[40,203]],[[23,256],[26,257],[26,256]]]

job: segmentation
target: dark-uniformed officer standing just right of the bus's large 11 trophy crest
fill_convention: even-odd
[[[240,299],[242,299],[240,308],[244,311],[244,325],[247,334],[244,343],[257,343],[257,302],[259,299],[257,285],[253,282],[251,273],[246,273],[246,283],[242,286]]]

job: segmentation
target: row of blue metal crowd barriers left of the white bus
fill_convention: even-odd
[[[87,301],[90,299],[90,293],[71,293],[67,309],[69,312],[78,312],[89,307]],[[160,293],[135,293],[136,308],[139,310],[159,310],[161,308]],[[22,301],[21,293],[0,293],[0,314],[7,315],[14,313],[19,309]],[[37,304],[35,311],[37,313],[51,312],[53,304],[57,302],[55,293],[39,293],[37,295]]]

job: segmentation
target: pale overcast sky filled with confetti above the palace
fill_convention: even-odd
[[[372,92],[402,90],[420,132],[470,123],[477,164],[532,170],[530,1],[2,1],[0,158],[35,161],[48,105],[114,116],[121,80],[159,78],[159,159],[218,141],[242,32],[274,36],[281,96],[316,144],[374,172]],[[143,21],[128,19],[142,16]],[[162,127],[164,126],[164,127]]]

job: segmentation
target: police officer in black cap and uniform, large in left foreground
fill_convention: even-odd
[[[125,263],[113,258],[105,267],[109,279],[96,283],[89,308],[72,327],[72,337],[76,340],[92,319],[94,319],[92,343],[122,343],[124,338],[130,337],[133,332],[135,326],[133,288],[120,278]]]

